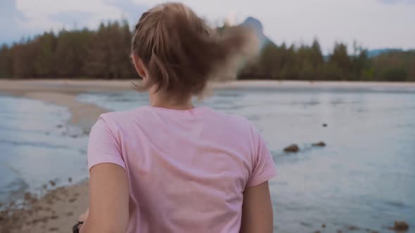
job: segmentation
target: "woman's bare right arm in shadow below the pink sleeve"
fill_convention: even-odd
[[[241,233],[272,233],[273,220],[268,181],[245,189]]]

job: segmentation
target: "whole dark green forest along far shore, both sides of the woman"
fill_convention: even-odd
[[[62,29],[21,39],[0,48],[0,78],[133,79],[129,60],[132,36],[126,20],[101,23],[96,30]],[[415,81],[415,50],[369,56],[366,49],[336,43],[330,54],[319,42],[301,46],[263,46],[247,62],[238,79],[308,81]]]

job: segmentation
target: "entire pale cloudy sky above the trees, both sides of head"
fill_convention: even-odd
[[[95,29],[108,20],[127,19],[165,1],[156,0],[0,0],[0,44],[51,29]],[[349,46],[415,48],[415,0],[182,0],[212,25],[248,16],[262,22],[276,44],[310,44],[325,53],[336,41]]]

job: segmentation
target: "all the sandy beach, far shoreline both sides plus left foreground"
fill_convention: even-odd
[[[315,82],[307,81],[232,81],[212,84],[213,88],[269,88],[276,86],[307,87],[310,85],[324,87],[345,88],[382,88],[384,86],[415,88],[415,83],[343,83],[343,82]],[[84,131],[94,124],[98,116],[106,109],[89,103],[77,101],[79,93],[88,91],[126,91],[132,89],[132,81],[91,81],[91,80],[0,80],[0,95],[12,95],[51,102],[55,105],[68,107],[72,114],[68,124],[81,127]],[[44,197],[35,199],[30,194],[25,197],[25,208],[12,211],[9,215],[0,214],[0,232],[70,232],[77,216],[88,206],[87,181],[69,187],[60,187],[51,190]],[[4,204],[4,206],[13,204]]]

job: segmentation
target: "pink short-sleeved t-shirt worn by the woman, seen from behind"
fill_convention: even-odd
[[[102,114],[88,166],[102,163],[127,171],[127,232],[137,233],[238,233],[243,190],[276,175],[253,125],[208,107]]]

